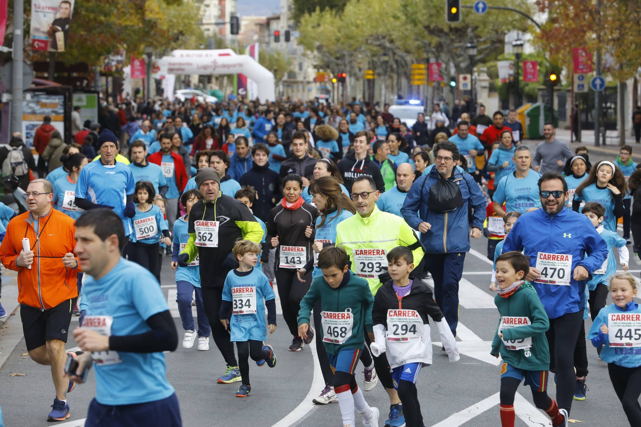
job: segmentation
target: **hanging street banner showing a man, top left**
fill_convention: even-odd
[[[31,0],[31,49],[64,52],[75,0]]]

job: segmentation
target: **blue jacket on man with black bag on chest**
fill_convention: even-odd
[[[401,214],[405,221],[415,230],[419,224],[428,222],[431,228],[420,234],[420,241],[426,254],[443,254],[445,252],[468,252],[470,250],[470,223],[467,218],[468,206],[474,210],[473,227],[483,230],[487,200],[472,175],[454,169],[454,182],[458,184],[463,198],[463,205],[451,212],[429,210],[429,189],[442,179],[436,168],[427,175],[422,175],[413,184],[405,197]]]

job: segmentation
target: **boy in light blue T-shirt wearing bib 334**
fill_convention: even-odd
[[[274,349],[269,344],[263,345],[267,339],[267,328],[270,334],[276,330],[276,296],[267,276],[254,268],[258,252],[260,246],[253,241],[237,241],[232,253],[238,261],[238,268],[229,271],[222,288],[219,318],[225,329],[229,330],[229,341],[236,342],[238,368],[242,377],[242,384],[236,392],[237,398],[246,398],[251,393],[249,357],[255,362],[265,360],[269,367],[276,366]]]

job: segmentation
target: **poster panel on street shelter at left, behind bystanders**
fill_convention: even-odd
[[[33,137],[45,116],[51,117],[51,125],[60,134],[65,134],[65,95],[33,93],[22,101],[22,136],[27,147],[33,147]]]

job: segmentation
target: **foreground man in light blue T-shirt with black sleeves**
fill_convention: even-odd
[[[156,278],[121,257],[122,222],[107,209],[83,213],[76,222],[76,253],[87,280],[82,287],[82,326],[74,339],[85,351],[71,379],[81,383],[96,367],[96,397],[85,427],[179,427],[178,398],[165,378],[165,355],[178,332]]]

